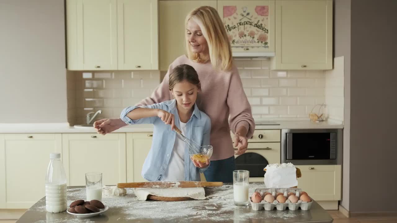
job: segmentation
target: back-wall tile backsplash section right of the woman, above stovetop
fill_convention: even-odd
[[[270,60],[262,60],[262,67],[259,61],[235,60],[254,116],[308,119],[306,107],[325,102],[324,71],[272,71]]]

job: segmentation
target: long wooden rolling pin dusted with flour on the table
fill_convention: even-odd
[[[118,183],[118,188],[187,188],[222,186],[223,182],[202,182],[202,181],[152,181],[136,183]]]

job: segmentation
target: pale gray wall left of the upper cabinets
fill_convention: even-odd
[[[0,1],[0,123],[67,122],[63,0]]]

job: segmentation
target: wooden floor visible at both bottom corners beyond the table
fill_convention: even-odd
[[[17,218],[23,214],[23,210],[8,212],[7,215],[0,211],[0,223],[15,223]],[[394,217],[346,217],[339,211],[328,211],[333,217],[333,223],[397,223],[397,216]],[[13,219],[12,219],[13,218]]]

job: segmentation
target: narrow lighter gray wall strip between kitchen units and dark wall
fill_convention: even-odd
[[[334,57],[345,58],[345,102],[343,129],[343,172],[342,172],[342,201],[341,205],[349,210],[349,181],[350,181],[350,21],[351,0],[334,0]]]

